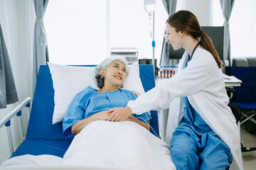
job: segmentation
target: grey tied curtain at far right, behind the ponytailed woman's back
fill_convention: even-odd
[[[233,8],[235,0],[220,0],[220,6],[223,11],[224,17],[224,56],[223,60],[230,62],[230,30],[229,30],[229,18]]]

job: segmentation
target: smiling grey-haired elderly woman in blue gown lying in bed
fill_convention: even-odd
[[[95,120],[107,120],[110,108],[125,107],[128,101],[135,100],[136,92],[120,89],[129,74],[127,60],[124,57],[108,57],[95,67],[97,86],[81,91],[73,98],[63,120],[63,135],[77,135],[86,125]],[[134,94],[135,93],[135,94]],[[142,125],[149,130],[149,113],[132,114],[127,120]]]

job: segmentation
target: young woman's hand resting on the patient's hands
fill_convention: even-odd
[[[107,118],[107,120],[112,122],[124,121],[132,115],[132,110],[128,106],[125,108],[112,108],[107,112],[112,112],[112,114]]]

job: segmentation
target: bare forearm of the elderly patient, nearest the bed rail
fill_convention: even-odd
[[[77,135],[89,123],[92,123],[93,121],[96,121],[96,120],[107,120],[107,118],[110,114],[111,113],[109,113],[107,111],[103,111],[100,113],[95,113],[94,115],[91,115],[89,118],[79,120],[77,123],[75,123],[71,127],[71,132],[73,135]]]

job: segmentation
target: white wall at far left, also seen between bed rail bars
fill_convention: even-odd
[[[18,102],[0,109],[0,120],[11,112],[18,103],[26,97],[32,96],[31,92],[31,33],[33,31],[28,21],[28,14],[33,13],[28,7],[33,1],[26,0],[0,0],[0,22],[4,32],[4,38],[9,52],[11,67],[14,74]],[[35,17],[33,17],[35,18]],[[26,134],[28,116],[26,109],[22,110],[23,130]],[[14,140],[14,149],[21,144],[16,116],[11,119],[11,132]],[[9,153],[6,128],[0,129],[0,163],[8,159]]]

